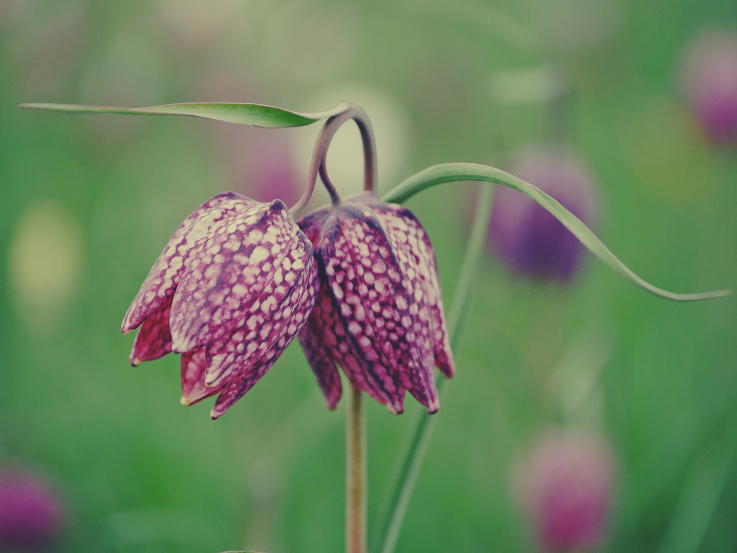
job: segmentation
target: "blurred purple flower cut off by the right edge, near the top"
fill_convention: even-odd
[[[682,55],[680,85],[708,139],[717,145],[737,142],[737,32],[696,33]]]

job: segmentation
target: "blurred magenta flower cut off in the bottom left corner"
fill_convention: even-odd
[[[46,482],[27,473],[0,469],[0,552],[38,552],[59,537],[60,499]]]

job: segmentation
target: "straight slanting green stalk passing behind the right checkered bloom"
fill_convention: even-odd
[[[471,307],[475,281],[478,277],[478,262],[481,259],[483,244],[486,242],[486,230],[489,229],[489,219],[492,215],[493,185],[481,184],[480,192],[466,253],[461,265],[461,274],[458,277],[453,304],[448,313],[448,335],[453,351],[458,347],[461,331]],[[436,381],[440,397],[444,394],[446,384],[447,379],[442,376]],[[371,553],[394,551],[394,545],[399,538],[399,529],[402,527],[402,521],[437,417],[437,415],[430,416],[425,411],[417,411],[410,423],[385,491],[379,524],[377,524],[374,540],[371,543]]]

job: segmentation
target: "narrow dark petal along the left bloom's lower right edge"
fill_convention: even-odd
[[[314,258],[307,265],[307,270],[303,272],[299,285],[293,288],[287,302],[294,306],[292,313],[288,316],[287,324],[282,327],[282,333],[276,342],[265,352],[265,354],[256,363],[247,366],[247,368],[237,372],[236,375],[226,384],[220,396],[215,401],[214,408],[210,413],[213,419],[222,417],[228,408],[230,408],[237,400],[250,390],[256,382],[266,374],[268,369],[276,362],[279,355],[282,355],[284,349],[291,343],[297,333],[307,322],[307,317],[315,305],[320,291],[320,280],[317,277],[317,266]],[[287,316],[285,316],[287,318]]]

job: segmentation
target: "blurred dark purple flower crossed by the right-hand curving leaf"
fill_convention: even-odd
[[[569,150],[541,146],[527,150],[509,170],[556,198],[587,225],[593,220],[593,177]],[[515,275],[570,280],[581,264],[579,240],[542,206],[522,192],[497,187],[489,244]]]

